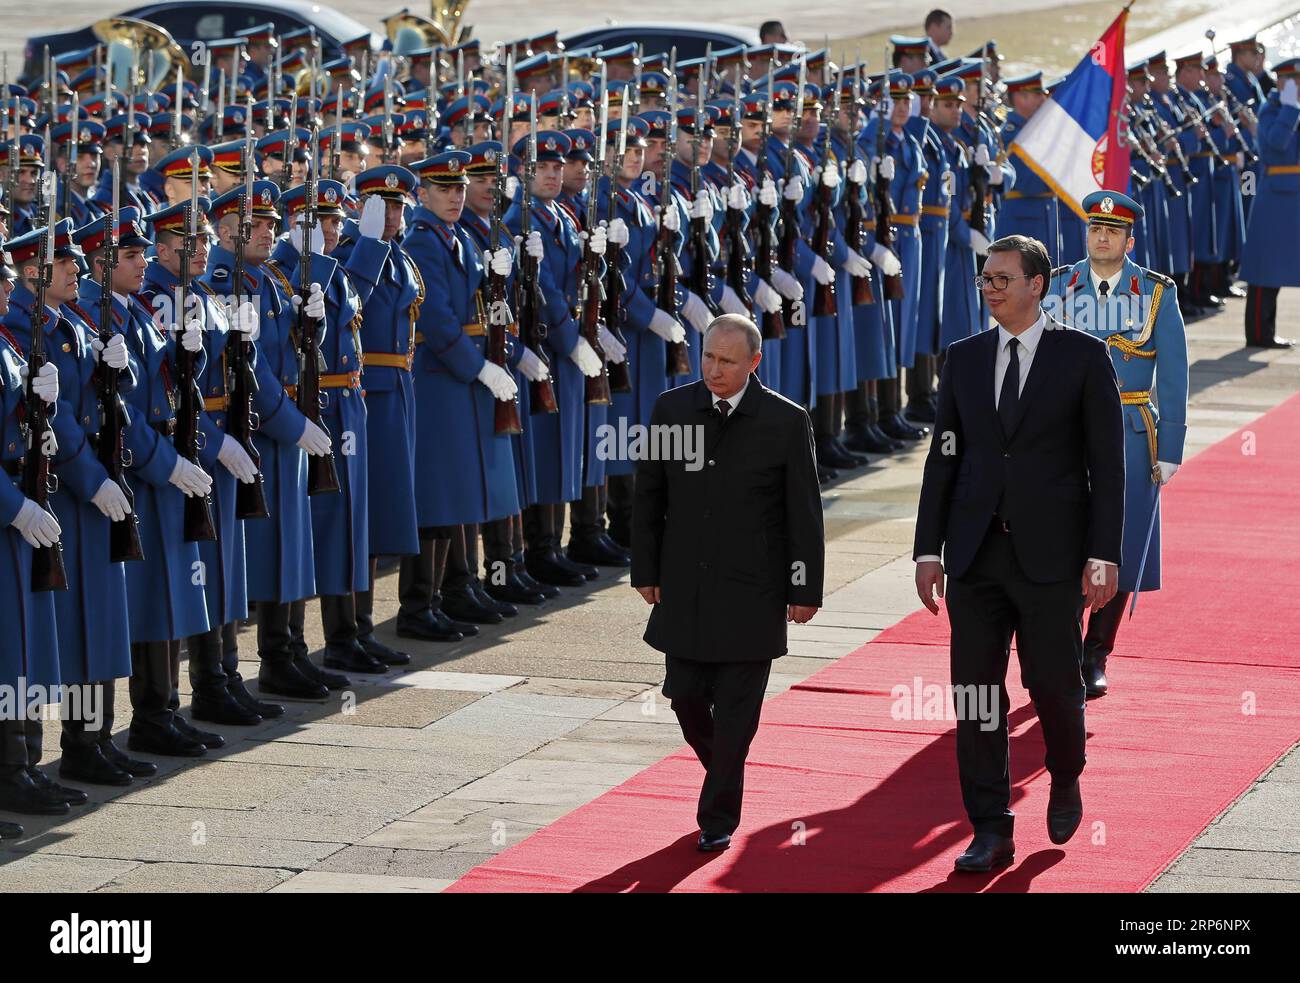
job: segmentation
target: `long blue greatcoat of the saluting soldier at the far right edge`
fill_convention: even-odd
[[[1300,286],[1300,109],[1278,91],[1260,111],[1260,185],[1242,250],[1242,280],[1251,286]]]

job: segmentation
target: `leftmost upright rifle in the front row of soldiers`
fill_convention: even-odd
[[[16,140],[17,143],[17,140]],[[10,151],[13,152],[13,151]],[[14,169],[14,168],[10,168]],[[55,274],[55,228],[52,222],[55,208],[53,174],[46,172],[40,177],[40,203],[36,208],[36,228],[44,228],[46,238],[40,246],[36,268],[35,299],[31,304],[31,345],[27,351],[27,391],[23,397],[26,410],[27,454],[22,469],[22,493],[38,506],[49,512],[49,495],[58,488],[58,478],[51,473],[51,460],[58,450],[55,429],[49,424],[49,408],[46,400],[36,395],[35,381],[44,368],[46,358],[46,289]],[[51,512],[52,514],[52,512]],[[66,590],[68,571],[64,567],[64,547],[31,547],[31,589]]]

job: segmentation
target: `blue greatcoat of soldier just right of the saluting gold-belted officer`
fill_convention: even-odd
[[[426,289],[415,359],[419,523],[464,525],[514,515],[514,450],[507,436],[495,433],[497,400],[477,381],[488,348],[478,247],[464,229],[422,207],[402,244]]]

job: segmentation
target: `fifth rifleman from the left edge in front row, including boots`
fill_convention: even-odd
[[[212,247],[207,282],[233,307],[235,328],[254,335],[257,347],[257,429],[254,445],[261,462],[268,511],[244,521],[248,599],[257,605],[257,684],[263,693],[294,700],[324,700],[337,674],[322,672],[295,644],[290,609],[316,593],[312,519],[307,498],[307,456],[332,452],[330,437],[295,403],[296,311],[290,294],[264,264],[270,257],[281,215],[280,191],[270,181],[252,183],[251,229],[243,246],[243,283],[235,283],[239,213],[244,187],[212,203],[218,244]],[[235,303],[235,302],[239,303]],[[325,316],[325,295],[311,290],[306,315]],[[322,337],[324,342],[325,338]]]

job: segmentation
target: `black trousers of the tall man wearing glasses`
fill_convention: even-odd
[[[1020,677],[1043,727],[1048,772],[1053,781],[1072,781],[1083,771],[1082,614],[1079,579],[1054,584],[1028,580],[1010,534],[997,523],[989,524],[970,570],[949,579],[952,677],[953,685],[962,688],[953,696],[957,770],[962,802],[976,832],[1010,836],[1015,820],[1006,726],[1013,633]],[[962,713],[963,705],[993,709],[994,722],[991,726],[976,713]]]

